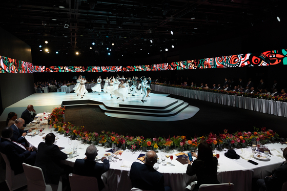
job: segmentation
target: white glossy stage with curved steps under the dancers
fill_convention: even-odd
[[[0,117],[6,121],[9,112],[15,112],[18,117],[29,104],[34,106],[36,113],[52,112],[53,108],[75,105],[98,105],[105,115],[115,118],[130,118],[146,121],[178,121],[193,117],[199,108],[189,105],[180,99],[167,97],[169,94],[149,94],[146,102],[141,102],[142,94],[131,94],[125,101],[109,93],[86,93],[83,99],[75,93],[51,92],[35,93],[7,107]]]

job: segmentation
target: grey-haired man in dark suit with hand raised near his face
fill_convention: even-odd
[[[103,180],[101,180],[101,175],[110,169],[109,160],[106,157],[101,158],[104,162],[98,163],[95,161],[97,154],[97,148],[95,145],[90,145],[87,147],[85,159],[77,159],[74,164],[74,173],[81,176],[96,177],[98,181],[98,189],[102,190],[105,185]]]

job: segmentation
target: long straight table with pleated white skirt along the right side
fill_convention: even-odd
[[[218,94],[213,92],[203,92],[174,87],[166,87],[152,84],[151,88],[155,91],[169,93],[173,95],[199,99],[232,107],[243,108],[261,113],[268,113],[277,116],[287,117],[287,102],[258,99],[251,97]]]

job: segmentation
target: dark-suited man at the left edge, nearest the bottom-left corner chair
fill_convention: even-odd
[[[22,144],[11,141],[13,130],[6,127],[2,130],[2,138],[0,140],[0,152],[7,155],[10,161],[11,169],[15,175],[23,173],[22,163],[25,162],[34,165],[36,152],[31,147],[25,147]]]

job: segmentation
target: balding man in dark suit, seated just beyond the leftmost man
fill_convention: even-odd
[[[23,130],[24,125],[24,119],[19,118],[16,119],[15,123],[11,125],[11,128],[13,130],[13,136],[11,138],[12,141],[16,141],[21,144],[25,144],[27,147],[29,147],[29,144],[27,140],[25,139],[25,136],[27,133],[30,133],[32,130]]]

